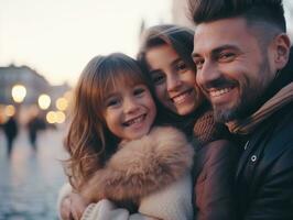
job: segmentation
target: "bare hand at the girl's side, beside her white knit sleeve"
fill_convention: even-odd
[[[87,206],[90,204],[79,194],[72,193],[70,196],[70,213],[74,220],[79,220],[86,210]]]

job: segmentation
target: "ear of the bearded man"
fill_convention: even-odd
[[[285,33],[281,33],[274,37],[274,64],[276,69],[282,69],[289,61],[290,38]]]

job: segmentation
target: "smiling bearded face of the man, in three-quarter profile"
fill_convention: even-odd
[[[217,121],[246,116],[273,80],[270,45],[260,46],[241,18],[202,23],[194,37],[197,82],[210,100]]]

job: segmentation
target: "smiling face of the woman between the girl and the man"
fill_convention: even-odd
[[[196,75],[167,44],[146,52],[146,62],[158,99],[171,111],[186,116],[198,108],[203,94],[196,85]]]

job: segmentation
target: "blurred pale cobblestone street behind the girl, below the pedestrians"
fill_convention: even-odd
[[[65,182],[63,135],[58,130],[41,132],[34,152],[22,129],[8,158],[0,131],[0,220],[57,219],[57,191]]]

